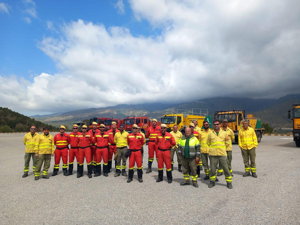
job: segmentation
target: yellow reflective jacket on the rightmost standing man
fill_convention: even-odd
[[[257,137],[253,128],[248,127],[247,130],[241,128],[238,131],[238,147],[245,150],[257,148]]]

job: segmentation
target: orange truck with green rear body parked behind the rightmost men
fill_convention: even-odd
[[[249,127],[255,130],[257,142],[262,138],[262,133],[265,131],[260,118],[255,118],[252,114],[245,114],[245,110],[222,110],[214,112],[214,119],[222,122],[223,119],[228,120],[228,127],[234,133],[234,141],[238,142],[238,131],[242,128],[242,120],[247,119]]]

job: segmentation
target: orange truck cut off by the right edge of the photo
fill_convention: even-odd
[[[291,117],[292,113],[292,117]],[[300,147],[300,104],[293,104],[287,111],[287,118],[293,121],[293,138],[297,147]]]

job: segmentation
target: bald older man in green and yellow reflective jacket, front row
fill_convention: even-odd
[[[194,187],[199,187],[197,184],[197,165],[196,160],[200,158],[200,143],[190,128],[185,128],[185,134],[178,142],[178,155],[181,158],[181,166],[183,171],[184,182],[180,183],[181,186],[190,185],[190,175]],[[196,159],[196,160],[195,160]]]

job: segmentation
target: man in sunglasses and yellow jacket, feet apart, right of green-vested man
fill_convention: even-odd
[[[227,187],[232,188],[232,177],[228,168],[227,152],[226,148],[230,145],[230,140],[227,133],[220,129],[220,120],[214,119],[213,121],[214,129],[208,133],[206,143],[209,146],[209,160],[210,160],[210,172],[209,179],[210,184],[208,187],[215,186],[216,180],[216,170],[218,167],[218,162],[220,161],[223,167],[225,180],[227,182]]]

